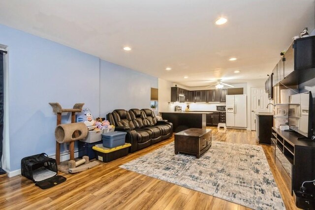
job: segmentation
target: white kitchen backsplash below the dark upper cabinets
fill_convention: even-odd
[[[225,105],[225,103],[179,103],[179,102],[174,102],[173,104],[170,103],[169,111],[174,111],[175,106],[181,106],[182,111],[185,111],[188,104],[189,104],[189,110],[190,111],[216,111],[217,106]]]

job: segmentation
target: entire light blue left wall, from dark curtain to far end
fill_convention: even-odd
[[[117,108],[148,108],[150,88],[158,87],[158,78],[3,25],[0,44],[9,52],[9,171],[20,169],[23,157],[55,153],[57,118],[49,102],[85,103],[105,117]]]

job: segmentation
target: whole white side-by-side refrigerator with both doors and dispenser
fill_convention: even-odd
[[[226,95],[226,126],[247,128],[246,95]]]

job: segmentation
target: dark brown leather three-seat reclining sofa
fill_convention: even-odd
[[[173,135],[173,124],[158,120],[150,109],[116,109],[107,114],[107,120],[115,125],[115,131],[127,133],[126,143],[131,144],[129,152],[149,147]]]

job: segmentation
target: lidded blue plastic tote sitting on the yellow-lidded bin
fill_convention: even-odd
[[[102,134],[103,146],[114,148],[125,144],[126,132],[114,131]]]

